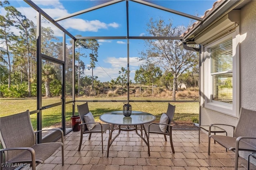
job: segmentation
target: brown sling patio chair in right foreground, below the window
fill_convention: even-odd
[[[211,135],[213,125],[225,125],[234,128],[233,137]],[[238,151],[256,151],[256,111],[241,107],[238,123],[235,126],[226,124],[211,124],[208,132],[208,155],[210,155],[210,140],[214,139],[221,146],[235,152],[235,170],[238,168]]]

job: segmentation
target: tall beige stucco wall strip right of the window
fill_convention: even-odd
[[[240,45],[240,103],[256,110],[256,1],[245,6],[241,16],[240,32],[246,37]]]

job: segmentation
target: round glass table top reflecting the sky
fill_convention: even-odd
[[[156,116],[143,111],[132,111],[130,117],[125,117],[123,111],[111,111],[101,115],[100,120],[114,125],[142,125],[156,120]]]

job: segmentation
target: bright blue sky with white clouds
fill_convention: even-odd
[[[102,0],[35,0],[33,1],[53,19],[57,19],[74,12],[96,6],[103,3]],[[105,1],[106,2],[106,1]],[[155,3],[172,10],[178,10],[194,16],[202,16],[204,12],[210,8],[215,1],[212,0],[150,0],[148,2]],[[21,0],[10,0],[10,5],[15,6],[23,15],[36,23],[35,10],[33,10],[26,2]],[[1,10],[1,14],[4,14]],[[147,35],[146,23],[154,18],[154,20],[171,20],[173,26],[188,26],[191,22],[190,18],[178,16],[169,12],[158,10],[152,7],[144,6],[136,2],[129,1],[129,35],[142,36]],[[127,36],[126,25],[126,2],[106,6],[92,12],[88,12],[79,16],[75,16],[63,21],[59,21],[65,29],[72,35],[82,36]],[[51,26],[54,35],[62,40],[62,32],[53,25],[42,24],[42,26]],[[18,32],[14,33],[18,34]],[[66,40],[69,43],[70,39]],[[121,67],[127,68],[127,40],[126,39],[98,39],[100,47],[98,49],[98,63],[94,68],[94,76],[98,76],[101,82],[110,81],[118,76]],[[137,57],[139,53],[145,49],[143,40],[130,40],[130,80],[134,82],[134,73],[138,69],[139,62]],[[83,51],[86,55],[90,51]],[[89,59],[81,58],[85,64],[89,63]],[[108,74],[106,74],[106,72]],[[91,70],[86,70],[84,74],[91,76]]]

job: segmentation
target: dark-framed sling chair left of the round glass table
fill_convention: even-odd
[[[85,104],[77,105],[77,109],[82,122],[81,124],[79,124],[81,127],[80,128],[81,135],[80,135],[80,143],[79,143],[78,151],[80,151],[82,146],[83,134],[90,133],[89,135],[89,140],[90,140],[92,133],[101,133],[102,153],[103,153],[103,133],[106,133],[106,131],[110,127],[110,124],[99,123],[99,122],[86,123],[84,119],[84,115],[90,113],[87,102]],[[98,115],[94,115],[94,116],[98,116]],[[88,130],[87,124],[94,124],[94,123],[95,123],[95,126],[92,129]]]

